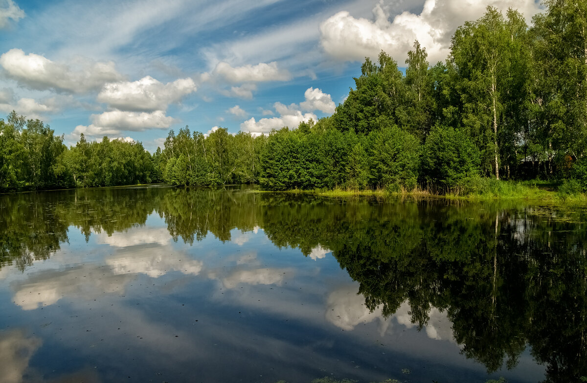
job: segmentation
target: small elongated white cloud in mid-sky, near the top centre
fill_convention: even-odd
[[[231,83],[288,81],[292,76],[286,69],[279,69],[277,63],[258,63],[232,67],[226,62],[220,62],[214,69],[214,74],[224,77]]]

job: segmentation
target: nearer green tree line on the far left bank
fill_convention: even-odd
[[[0,192],[50,188],[144,184],[153,178],[153,160],[141,143],[121,139],[75,146],[39,120],[14,111],[0,120]]]

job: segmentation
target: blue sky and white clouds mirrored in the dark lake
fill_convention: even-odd
[[[408,300],[370,310],[324,243],[275,245],[254,222],[190,243],[171,213],[147,211],[110,233],[70,225],[48,259],[0,269],[0,381],[544,379],[529,350],[488,374],[448,307],[429,304],[421,328]]]

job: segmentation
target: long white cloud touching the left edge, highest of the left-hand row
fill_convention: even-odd
[[[35,53],[26,55],[21,49],[11,49],[0,56],[0,65],[19,84],[36,90],[83,93],[122,80],[113,62],[82,60],[72,68]]]

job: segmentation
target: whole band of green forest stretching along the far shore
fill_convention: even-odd
[[[480,179],[547,179],[587,191],[587,3],[545,1],[527,25],[488,7],[446,62],[414,42],[381,52],[332,116],[269,135],[171,130],[163,149],[120,139],[66,147],[47,124],[0,120],[0,191],[167,182],[265,189],[451,191]]]

